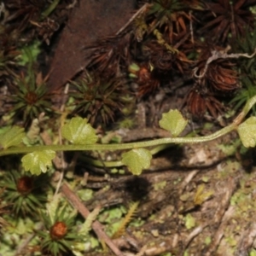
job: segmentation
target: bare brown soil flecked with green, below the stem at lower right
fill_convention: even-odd
[[[139,201],[134,223],[113,240],[124,255],[248,255],[256,170],[251,155],[229,156],[236,139],[169,148],[139,177],[89,175],[87,187],[99,190],[84,203],[93,210]]]

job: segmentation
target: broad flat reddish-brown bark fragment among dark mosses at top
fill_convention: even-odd
[[[51,62],[49,90],[58,90],[88,65],[84,47],[113,35],[131,18],[135,0],[80,0],[64,28]]]

